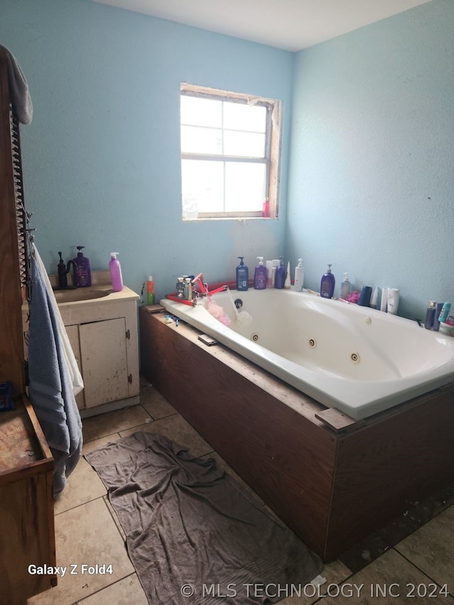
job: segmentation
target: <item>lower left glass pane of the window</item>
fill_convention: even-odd
[[[182,160],[183,218],[223,212],[223,162]]]

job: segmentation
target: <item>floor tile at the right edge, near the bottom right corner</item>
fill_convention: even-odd
[[[454,506],[423,525],[395,547],[438,584],[454,594]]]

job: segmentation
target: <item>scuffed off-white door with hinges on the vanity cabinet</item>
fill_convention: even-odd
[[[85,407],[129,395],[124,317],[79,325]]]

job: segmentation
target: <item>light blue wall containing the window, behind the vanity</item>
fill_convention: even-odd
[[[85,245],[92,269],[120,252],[123,278],[157,296],[180,274],[233,278],[237,256],[276,257],[278,221],[183,223],[179,83],[283,100],[287,196],[294,55],[89,0],[1,0],[0,42],[26,74],[33,122],[21,128],[26,206],[49,272]]]

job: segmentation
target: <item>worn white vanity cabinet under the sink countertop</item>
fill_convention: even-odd
[[[94,294],[102,284],[95,284]],[[104,411],[138,404],[140,401],[138,361],[138,294],[124,287],[105,296],[58,301],[68,338],[84,379],[84,389],[76,396],[82,418]],[[82,290],[82,289],[81,289]],[[95,292],[96,291],[96,292]],[[68,291],[72,296],[74,291]],[[26,318],[26,313],[24,313]],[[24,331],[28,325],[24,323]]]

